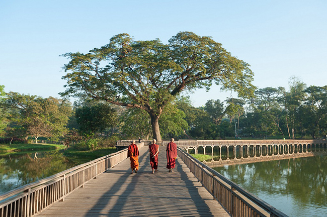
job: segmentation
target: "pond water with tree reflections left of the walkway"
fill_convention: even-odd
[[[46,178],[83,162],[72,161],[60,151],[0,158],[0,194]]]

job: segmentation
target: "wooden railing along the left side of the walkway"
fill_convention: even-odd
[[[144,143],[137,144],[142,148]],[[34,216],[127,158],[127,149],[67,169],[0,195],[0,216]]]

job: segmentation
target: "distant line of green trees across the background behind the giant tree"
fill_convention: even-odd
[[[80,96],[65,99],[4,92],[0,86],[0,137],[9,143],[46,138],[90,149],[115,140],[153,138],[144,110]],[[208,100],[194,107],[186,96],[166,106],[159,119],[163,138],[322,138],[327,134],[327,86],[309,86],[296,77],[284,87],[257,89],[251,98]],[[107,140],[99,140],[106,138]],[[111,138],[111,141],[108,141]]]

